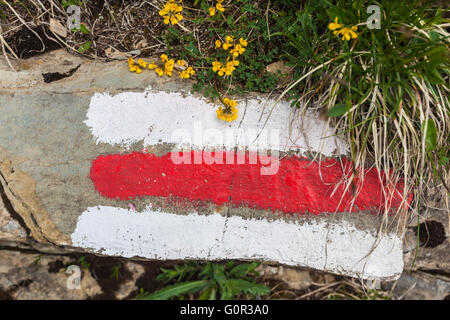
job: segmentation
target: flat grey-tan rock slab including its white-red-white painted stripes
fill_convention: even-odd
[[[39,59],[26,73],[0,65],[0,184],[38,241],[366,279],[401,274],[402,240],[377,231],[380,208],[402,205],[402,185],[385,194],[385,173],[371,169],[346,190],[348,146],[314,114],[248,98],[226,123],[217,106],[186,93],[187,82],[63,51]],[[40,68],[60,72],[55,59],[81,66],[45,84]]]

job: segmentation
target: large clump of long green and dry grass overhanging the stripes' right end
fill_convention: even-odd
[[[271,36],[289,44],[284,57],[295,80],[279,99],[289,97],[301,111],[327,111],[351,147],[346,188],[369,165],[389,173],[380,177],[386,198],[403,180],[398,192],[405,202],[414,192],[413,208],[434,178],[448,192],[449,34],[441,10],[433,1],[288,2],[283,30]],[[381,9],[380,29],[367,27],[370,4]],[[336,22],[355,36],[342,39]]]

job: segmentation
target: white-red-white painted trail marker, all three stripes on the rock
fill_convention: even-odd
[[[94,95],[85,123],[97,143],[119,144],[125,150],[141,141],[145,148],[172,145],[172,152],[164,155],[122,152],[93,159],[90,178],[103,197],[176,197],[182,203],[266,210],[273,219],[216,211],[180,215],[151,207],[130,213],[98,206],[80,216],[73,242],[127,257],[259,259],[366,278],[401,273],[401,240],[395,235],[383,237],[367,258],[376,241],[373,232],[358,230],[349,221],[310,218],[299,223],[278,216],[377,214],[386,197],[379,182],[383,173],[375,169],[366,172],[364,181],[355,180],[359,195],[352,201],[342,183],[351,172],[345,158],[324,158],[319,165],[302,156],[280,157],[289,151],[338,156],[346,146],[335,137],[323,139],[330,128],[314,116],[299,117],[286,102],[270,112],[273,104],[243,102],[244,114],[230,124],[215,118],[213,105],[190,95],[150,90]],[[279,136],[271,136],[273,132]],[[390,196],[394,208],[400,205],[401,191],[399,186]]]

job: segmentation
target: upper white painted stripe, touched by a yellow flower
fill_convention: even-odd
[[[300,115],[286,101],[272,110],[273,105],[273,100],[238,101],[239,118],[230,123],[217,119],[217,106],[190,94],[149,89],[114,96],[96,93],[91,98],[85,123],[97,143],[127,148],[143,141],[144,146],[158,143],[200,149],[237,146],[261,151],[313,151],[325,156],[348,150],[341,139],[329,137],[332,129],[317,116]]]

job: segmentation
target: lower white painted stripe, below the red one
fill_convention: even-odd
[[[72,241],[107,255],[150,259],[251,259],[310,267],[365,279],[396,278],[403,269],[402,241],[356,229],[349,222],[243,219],[90,207]],[[101,227],[101,232],[99,232]],[[326,246],[327,245],[327,246]]]

